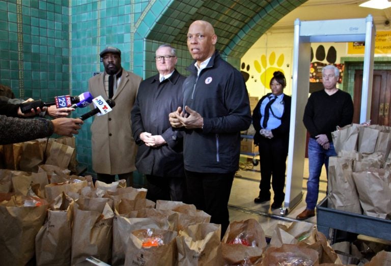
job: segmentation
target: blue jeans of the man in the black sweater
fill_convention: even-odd
[[[330,148],[325,150],[316,142],[316,139],[310,138],[308,142],[308,168],[310,176],[307,181],[307,195],[305,197],[305,203],[307,203],[307,209],[309,210],[315,210],[316,203],[318,202],[320,173],[324,164],[328,176],[328,158],[330,156],[337,156],[334,145],[331,142]]]

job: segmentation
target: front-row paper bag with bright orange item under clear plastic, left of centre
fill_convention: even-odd
[[[177,232],[163,229],[140,229],[130,234],[125,266],[177,264]]]

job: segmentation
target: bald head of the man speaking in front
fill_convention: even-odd
[[[187,47],[198,65],[213,55],[216,42],[212,24],[204,20],[191,23],[187,33]]]

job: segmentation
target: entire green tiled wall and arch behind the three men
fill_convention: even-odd
[[[0,82],[22,98],[79,95],[88,90],[93,72],[103,71],[99,52],[108,45],[122,50],[125,69],[147,78],[156,73],[156,48],[170,43],[177,49],[177,69],[188,75],[186,32],[196,19],[215,25],[217,49],[239,68],[240,54],[258,40],[264,25],[305,1],[2,0]],[[77,109],[73,117],[85,112]],[[76,136],[78,161],[89,172],[91,123],[85,121]]]

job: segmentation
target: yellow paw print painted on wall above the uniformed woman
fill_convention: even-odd
[[[282,53],[280,56],[278,56],[277,62],[275,60],[276,55],[275,52],[271,52],[269,55],[269,66],[268,66],[267,61],[266,61],[266,55],[262,54],[261,55],[261,63],[259,61],[254,61],[254,68],[257,70],[258,73],[261,74],[260,80],[262,84],[266,87],[269,88],[269,83],[271,78],[273,77],[273,73],[275,71],[281,71],[284,73],[284,70],[281,68],[284,64],[284,54]],[[276,63],[277,67],[274,67],[273,65]],[[265,69],[265,71],[262,73],[262,69]],[[285,75],[285,73],[284,73]]]

